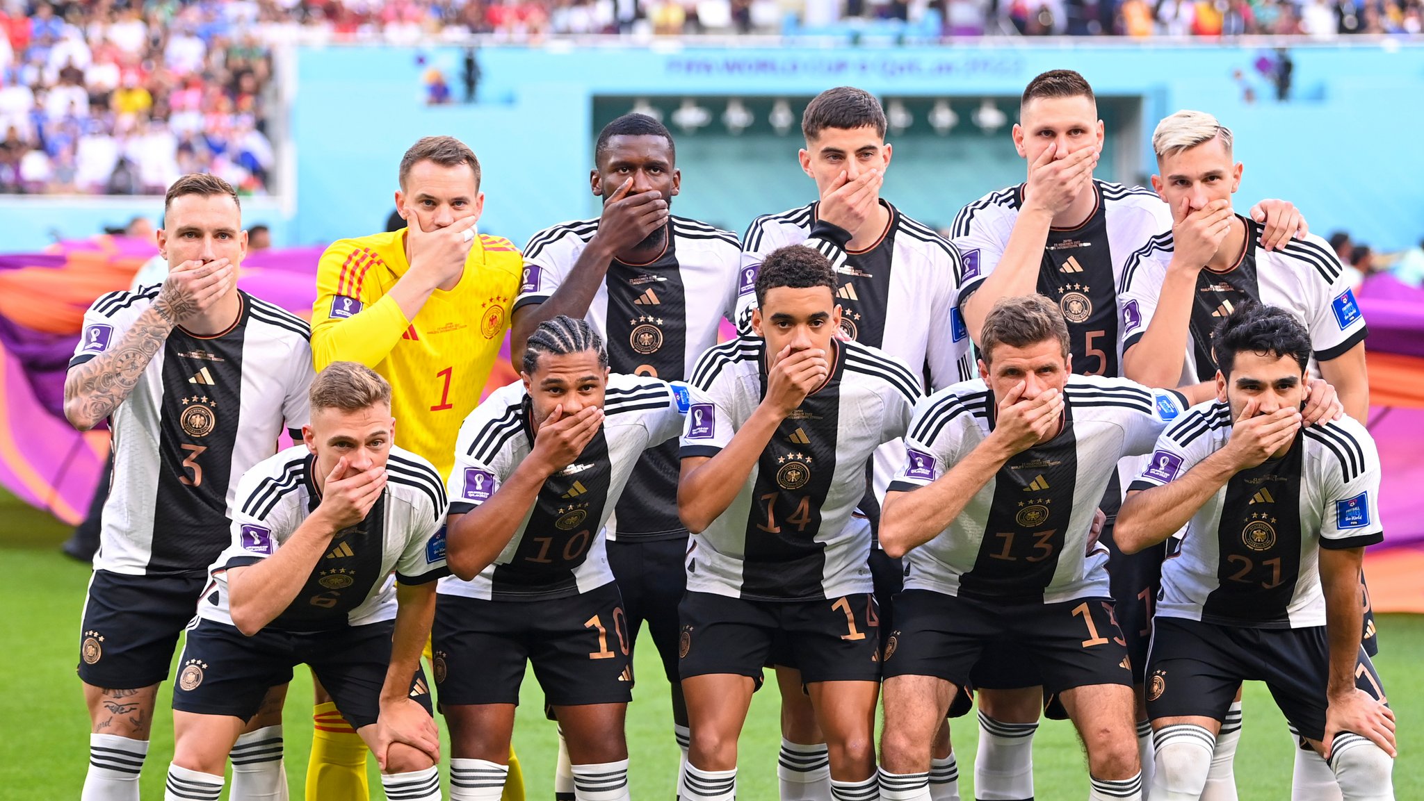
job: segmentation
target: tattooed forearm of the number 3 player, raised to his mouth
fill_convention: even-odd
[[[226,259],[184,262],[168,273],[154,304],[138,316],[108,351],[73,367],[64,377],[64,417],[80,431],[107,418],[138,386],[144,368],[174,326],[208,309],[231,289]]]

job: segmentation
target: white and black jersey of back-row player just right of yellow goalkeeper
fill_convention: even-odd
[[[524,249],[524,279],[514,307],[543,303],[564,283],[598,218],[535,233]],[[736,235],[674,216],[666,248],[646,265],[617,259],[584,317],[604,337],[614,373],[685,381],[698,356],[718,343],[722,320],[736,322],[740,246]],[[686,536],[678,519],[678,445],[644,454],[607,526],[608,539]]]

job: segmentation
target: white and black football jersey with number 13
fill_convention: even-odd
[[[1125,378],[1071,376],[1064,401],[1057,437],[1010,458],[947,529],[910,551],[906,589],[1005,603],[1108,596],[1108,551],[1087,553],[1094,512],[1118,460],[1151,451],[1185,400]],[[943,477],[990,435],[997,411],[978,378],[923,400],[890,489]]]

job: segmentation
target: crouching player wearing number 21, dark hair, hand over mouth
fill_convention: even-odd
[[[1349,417],[1302,425],[1312,341],[1290,312],[1237,307],[1213,350],[1216,400],[1162,434],[1118,515],[1129,553],[1188,526],[1148,659],[1151,798],[1200,797],[1236,687],[1260,680],[1346,800],[1393,800],[1394,713],[1360,646],[1360,562],[1384,538],[1374,440]]]

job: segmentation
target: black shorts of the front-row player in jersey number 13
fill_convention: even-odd
[[[1038,666],[1044,690],[1132,684],[1128,649],[1112,617],[1112,599],[1012,603],[910,589],[896,596],[896,630],[886,644],[884,674],[970,681],[991,647],[1012,646]]]

